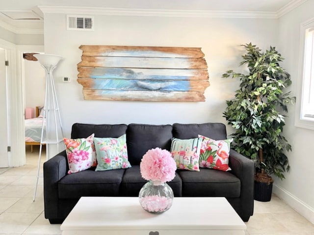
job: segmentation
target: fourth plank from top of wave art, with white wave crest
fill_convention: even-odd
[[[84,89],[95,90],[133,90],[133,91],[200,91],[209,86],[205,80],[139,80],[139,79],[102,79],[78,78]]]

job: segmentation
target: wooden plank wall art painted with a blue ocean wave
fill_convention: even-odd
[[[204,102],[209,86],[201,48],[79,47],[85,100]]]

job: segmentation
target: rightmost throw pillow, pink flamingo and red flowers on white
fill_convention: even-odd
[[[212,168],[220,171],[230,171],[229,153],[231,139],[213,140],[203,135],[198,135],[203,139],[200,153],[200,167]]]

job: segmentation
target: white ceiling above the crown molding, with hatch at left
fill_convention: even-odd
[[[273,13],[278,16],[306,0],[0,0],[0,26],[15,33],[42,33],[44,14],[38,6],[184,12]]]

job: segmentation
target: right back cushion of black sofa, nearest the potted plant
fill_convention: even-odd
[[[204,135],[214,140],[227,138],[226,126],[222,123],[180,124],[172,125],[173,137],[178,139],[197,138]]]

